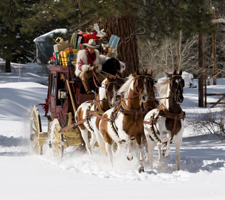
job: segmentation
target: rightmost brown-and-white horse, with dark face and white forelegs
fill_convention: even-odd
[[[176,165],[180,169],[180,146],[184,131],[185,113],[180,107],[183,102],[184,80],[181,77],[182,71],[177,74],[167,74],[164,82],[158,85],[158,94],[161,105],[157,109],[148,112],[144,118],[144,132],[147,140],[147,161],[153,168],[153,150],[158,147],[158,161],[162,160],[161,147],[164,145],[166,150],[164,157],[169,156],[170,144],[176,143]]]

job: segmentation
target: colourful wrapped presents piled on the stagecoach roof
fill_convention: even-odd
[[[70,42],[58,37],[55,40],[56,44],[54,45],[51,63],[61,66],[75,66],[78,51],[85,49],[84,43],[88,43],[90,39],[96,41],[96,44],[99,46],[98,50],[102,56],[116,57],[117,45],[120,38],[111,35],[110,40],[107,41],[104,39],[105,35],[103,30],[100,31],[98,25],[94,24],[92,31],[75,31],[71,36]]]

